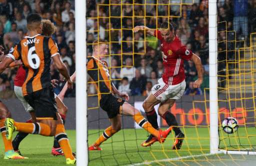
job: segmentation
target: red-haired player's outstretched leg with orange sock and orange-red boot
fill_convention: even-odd
[[[140,113],[140,111],[138,109],[134,108],[132,105],[130,105],[127,102],[123,103],[122,109],[121,109],[120,113],[132,116],[134,121],[136,121],[136,123],[140,127],[144,128],[150,134],[154,135],[160,143],[162,143],[164,141],[164,139],[167,137],[167,135],[170,132],[170,128],[168,128],[168,129],[166,129],[164,131],[155,129],[151,125],[151,123],[148,122],[144,118],[144,116],[142,116],[142,114]]]

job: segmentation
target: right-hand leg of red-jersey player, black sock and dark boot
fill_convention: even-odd
[[[184,139],[184,134],[178,127],[178,123],[176,121],[175,116],[169,111],[174,102],[175,99],[168,99],[165,102],[160,103],[158,107],[158,113],[163,119],[165,119],[167,124],[171,126],[173,131],[175,132],[175,140],[172,149],[180,149]]]

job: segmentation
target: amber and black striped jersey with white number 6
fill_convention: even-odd
[[[50,61],[58,54],[58,48],[51,37],[36,34],[25,36],[7,56],[13,60],[21,59],[26,70],[25,82],[22,85],[23,95],[51,86]]]

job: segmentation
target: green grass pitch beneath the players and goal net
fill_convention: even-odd
[[[255,128],[252,129],[255,130]],[[185,132],[186,139],[182,149],[175,151],[171,150],[173,134],[170,134],[163,144],[155,142],[150,147],[142,147],[140,143],[147,136],[143,129],[122,129],[101,145],[102,151],[89,152],[89,165],[136,165],[145,161],[148,161],[147,165],[247,165],[250,162],[256,162],[254,155],[224,154],[187,157],[181,160],[178,157],[209,152],[208,128],[183,128],[182,130]],[[88,144],[93,143],[102,131],[89,130]],[[239,134],[243,132],[240,128]],[[75,131],[67,130],[67,134],[75,151]],[[245,142],[245,139],[243,141]],[[256,140],[253,141],[256,144]],[[65,165],[63,156],[56,157],[50,154],[52,143],[52,137],[30,134],[20,144],[22,154],[29,159],[3,160],[3,144],[0,141],[0,165]],[[166,160],[168,158],[174,160]],[[158,161],[150,162],[153,160]]]

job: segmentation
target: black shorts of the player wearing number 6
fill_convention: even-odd
[[[34,91],[25,95],[24,98],[34,109],[36,119],[57,119],[57,106],[52,87]]]

